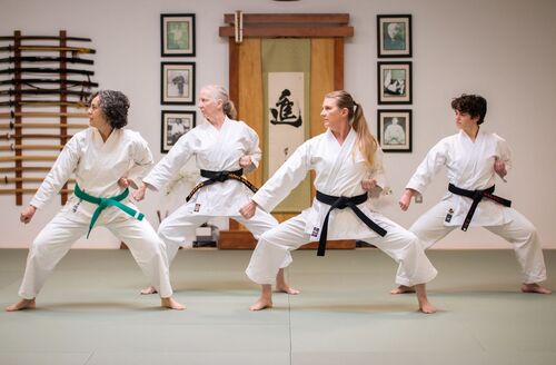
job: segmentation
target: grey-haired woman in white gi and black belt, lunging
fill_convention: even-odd
[[[183,135],[133,193],[133,197],[141,200],[147,188],[160,190],[190,158],[195,158],[200,169],[198,185],[187,201],[163,219],[158,228],[158,235],[166,243],[170,265],[185,237],[195,234],[197,227],[211,217],[230,217],[245,225],[256,238],[278,225],[265,211],[259,211],[250,220],[238,214],[252,195],[250,184],[242,175],[256,169],[261,156],[255,130],[242,121],[234,120],[236,109],[228,91],[220,86],[201,89],[199,109],[208,122]],[[286,284],[284,270],[276,277],[276,286],[280,292],[299,293]],[[155,290],[149,287],[141,293],[152,294]]]

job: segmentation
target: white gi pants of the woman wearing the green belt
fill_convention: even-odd
[[[87,234],[89,220],[76,221],[69,219],[67,215],[68,213],[60,211],[48,223],[29,249],[26,274],[19,289],[19,296],[22,298],[34,298],[73,243]],[[170,297],[172,289],[166,247],[152,226],[145,219],[128,217],[123,211],[111,221],[102,220],[101,215],[97,226],[105,226],[126,243],[135,260],[160,296]]]

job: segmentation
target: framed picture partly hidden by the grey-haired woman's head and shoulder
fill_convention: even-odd
[[[160,151],[168,154],[178,139],[195,128],[195,111],[162,110]]]

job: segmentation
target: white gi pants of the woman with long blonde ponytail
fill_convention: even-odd
[[[274,284],[280,267],[291,263],[290,251],[309,243],[309,235],[305,231],[306,219],[304,214],[290,218],[278,227],[266,231],[259,239],[252,253],[247,276],[257,284]],[[397,264],[396,283],[399,285],[425,284],[435,278],[437,270],[430,264],[417,237],[401,226],[380,216],[373,217],[380,227],[388,233],[385,237],[371,235],[363,238],[366,243],[375,245]],[[287,265],[284,265],[287,263]]]

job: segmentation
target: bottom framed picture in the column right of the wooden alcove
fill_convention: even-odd
[[[381,109],[377,111],[377,137],[385,152],[411,151],[411,110]]]

